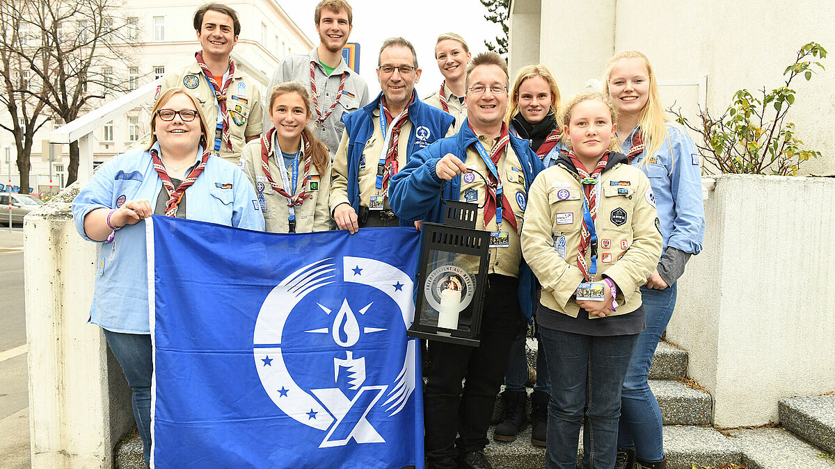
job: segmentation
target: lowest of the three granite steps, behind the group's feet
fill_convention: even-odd
[[[493,441],[493,427],[489,430],[490,444],[484,452],[495,467],[540,469],[545,466],[545,450],[530,444],[530,427],[513,442]],[[583,454],[582,431],[579,435],[578,458]],[[664,447],[668,469],[691,469],[693,465],[720,466],[726,462],[739,463],[741,452],[720,432],[702,426],[665,426]]]

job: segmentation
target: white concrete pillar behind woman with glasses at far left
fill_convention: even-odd
[[[23,265],[33,467],[113,467],[134,426],[130,391],[101,329],[87,324],[95,246],[75,230],[77,184],[24,224]]]

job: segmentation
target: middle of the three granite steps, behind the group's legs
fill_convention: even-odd
[[[650,380],[650,389],[658,400],[664,425],[710,425],[713,401],[711,395],[705,391],[698,391],[686,386],[680,381]],[[503,388],[504,391],[504,388]],[[525,402],[525,415],[530,416],[530,394]],[[496,398],[493,406],[493,424],[502,420],[504,401],[501,396]],[[529,419],[530,420],[530,419]]]

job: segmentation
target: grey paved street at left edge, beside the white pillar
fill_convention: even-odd
[[[0,467],[30,465],[23,232],[0,226]]]

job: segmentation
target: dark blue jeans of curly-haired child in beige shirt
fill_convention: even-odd
[[[584,421],[584,469],[611,469],[617,452],[620,388],[638,335],[579,335],[545,327],[539,334],[551,376],[546,467],[575,469],[577,435]]]

